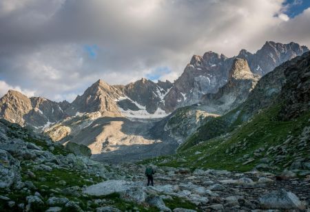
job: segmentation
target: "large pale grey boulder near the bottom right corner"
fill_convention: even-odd
[[[284,189],[272,191],[259,198],[262,209],[304,209],[304,205],[299,198]]]

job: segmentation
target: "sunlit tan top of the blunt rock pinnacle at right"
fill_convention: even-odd
[[[231,79],[245,79],[253,78],[254,74],[251,72],[247,60],[245,59],[234,59],[234,62],[229,71],[229,80]]]

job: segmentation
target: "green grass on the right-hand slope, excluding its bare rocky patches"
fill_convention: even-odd
[[[249,171],[258,165],[261,158],[273,158],[275,155],[267,155],[267,149],[271,146],[282,144],[287,136],[298,136],[304,126],[309,126],[310,112],[305,113],[296,120],[279,121],[276,116],[280,105],[266,109],[256,114],[249,123],[244,123],[226,136],[218,136],[210,140],[200,142],[198,145],[179,149],[175,156],[156,158],[158,165],[167,165],[172,167],[190,167],[226,169],[230,171]],[[238,123],[238,120],[236,120]],[[237,147],[238,143],[239,147]],[[243,144],[246,144],[243,146]],[[227,149],[236,147],[227,153]],[[264,148],[261,156],[254,157],[254,151]],[[201,153],[195,154],[197,151]],[[254,158],[253,162],[242,165],[238,158],[249,154]],[[300,152],[301,156],[309,155],[309,147]],[[287,156],[280,164],[277,164],[279,170],[284,169],[284,165],[289,162],[291,156]],[[154,161],[154,160],[153,160]],[[150,160],[145,161],[150,162]],[[276,171],[277,169],[275,169]]]

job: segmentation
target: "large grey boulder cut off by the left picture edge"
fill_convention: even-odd
[[[11,187],[21,180],[19,161],[8,151],[0,149],[0,188]]]

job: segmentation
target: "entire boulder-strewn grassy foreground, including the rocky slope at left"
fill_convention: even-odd
[[[310,176],[107,165],[0,122],[1,211],[309,211]]]

